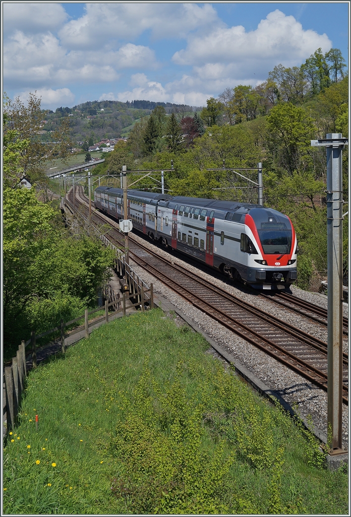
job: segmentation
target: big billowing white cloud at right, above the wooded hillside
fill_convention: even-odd
[[[208,67],[210,76],[213,68],[209,64],[231,64],[233,75],[247,77],[250,69],[267,74],[279,63],[299,65],[319,47],[324,52],[331,48],[326,34],[305,31],[293,16],[276,9],[255,31],[247,33],[237,25],[216,28],[205,37],[190,36],[187,48],[175,52],[172,59],[178,65],[197,66],[202,72]]]

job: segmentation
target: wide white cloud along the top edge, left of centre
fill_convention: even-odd
[[[91,3],[78,20],[59,32],[70,48],[93,49],[116,40],[133,40],[150,30],[154,38],[185,38],[191,31],[224,25],[210,4]]]

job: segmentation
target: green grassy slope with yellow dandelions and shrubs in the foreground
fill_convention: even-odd
[[[206,349],[153,310],[30,372],[4,513],[347,514],[347,475]]]

